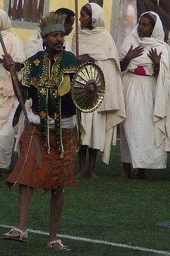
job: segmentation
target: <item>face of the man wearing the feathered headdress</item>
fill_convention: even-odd
[[[64,33],[60,31],[52,32],[43,38],[47,51],[60,52],[64,43]]]

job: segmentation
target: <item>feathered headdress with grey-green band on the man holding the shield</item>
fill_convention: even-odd
[[[39,27],[41,29],[41,37],[45,37],[52,32],[61,31],[65,33],[64,23],[66,21],[66,14],[49,13],[40,18]]]

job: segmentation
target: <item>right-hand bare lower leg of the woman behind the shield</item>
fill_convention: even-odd
[[[97,158],[97,149],[89,148],[89,169],[88,176],[92,179],[97,179],[95,174],[95,163]]]

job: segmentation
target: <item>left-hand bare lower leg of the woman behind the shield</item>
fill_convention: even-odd
[[[76,177],[83,177],[86,174],[86,153],[87,146],[81,145],[80,151],[78,152],[80,171],[77,172]]]

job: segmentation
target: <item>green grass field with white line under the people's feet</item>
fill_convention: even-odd
[[[81,185],[66,188],[59,232],[91,240],[138,246],[158,251],[170,251],[170,229],[155,223],[170,219],[170,172],[148,170],[152,180],[134,178],[121,180],[120,147],[112,148],[110,165],[101,162],[98,154],[99,179],[80,179]],[[15,226],[18,216],[18,189],[10,191],[1,177],[0,226]],[[48,232],[50,193],[35,193],[30,205],[29,229]],[[7,228],[0,227],[1,235]],[[62,255],[77,256],[138,256],[163,255],[80,240],[61,238],[72,251],[55,252],[46,249],[47,235],[29,233],[29,243],[0,240],[0,255]],[[170,255],[170,254],[164,254]]]

